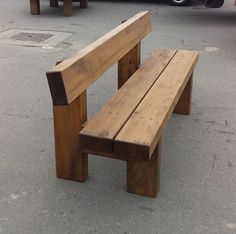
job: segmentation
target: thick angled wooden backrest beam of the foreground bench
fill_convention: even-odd
[[[54,105],[71,103],[149,32],[150,13],[140,12],[49,70],[47,77]]]

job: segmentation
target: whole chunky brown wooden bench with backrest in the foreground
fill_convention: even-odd
[[[128,192],[156,197],[161,135],[172,112],[190,113],[198,54],[159,49],[140,65],[149,32],[150,13],[140,12],[47,72],[59,178],[85,181],[88,154],[120,159]],[[119,90],[87,121],[86,89],[116,62]]]

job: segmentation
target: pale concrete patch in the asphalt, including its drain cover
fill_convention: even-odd
[[[0,43],[53,48],[71,35],[68,32],[10,29],[0,33]]]

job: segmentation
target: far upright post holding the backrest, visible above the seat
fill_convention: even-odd
[[[118,89],[138,70],[140,65],[141,43],[118,61]]]

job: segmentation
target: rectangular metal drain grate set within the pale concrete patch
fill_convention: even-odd
[[[48,38],[52,37],[52,34],[47,33],[27,33],[27,32],[21,32],[14,36],[12,36],[10,39],[18,40],[18,41],[34,41],[34,42],[42,42],[47,40]]]

